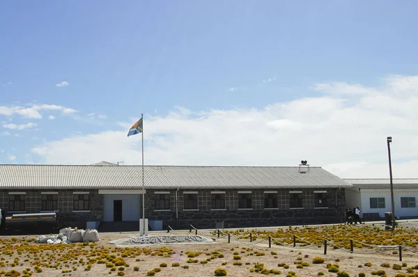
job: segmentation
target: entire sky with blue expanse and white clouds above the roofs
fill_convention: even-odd
[[[1,1],[0,163],[418,177],[417,1]]]

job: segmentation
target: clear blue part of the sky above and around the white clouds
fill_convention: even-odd
[[[418,74],[417,8],[416,1],[1,1],[0,106],[62,108],[35,108],[42,119],[0,113],[0,133],[8,132],[0,136],[0,162],[55,162],[33,148],[54,152],[53,143],[74,136],[127,132],[141,113],[157,124],[177,113],[176,106],[199,118],[321,97],[317,84],[386,90],[388,76]],[[10,129],[30,122],[36,126]],[[214,140],[222,136],[214,132]],[[146,143],[158,150],[167,136],[174,135],[160,130]],[[208,163],[236,164],[221,156]]]

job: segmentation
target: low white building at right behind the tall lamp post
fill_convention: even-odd
[[[364,221],[379,220],[392,212],[389,179],[344,179],[353,187],[346,189],[346,205],[362,210]],[[418,178],[393,179],[396,219],[418,218]]]

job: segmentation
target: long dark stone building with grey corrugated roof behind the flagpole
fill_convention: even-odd
[[[141,166],[0,165],[1,209],[58,209],[79,228],[133,223],[138,230],[143,193],[151,229],[339,223],[349,187],[309,166],[144,166],[143,187]]]

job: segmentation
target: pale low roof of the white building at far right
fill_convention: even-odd
[[[353,188],[360,189],[389,189],[390,179],[344,179],[353,184]],[[392,179],[394,189],[416,189],[418,188],[418,178],[396,178]]]

